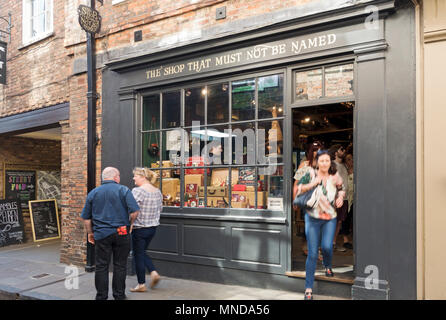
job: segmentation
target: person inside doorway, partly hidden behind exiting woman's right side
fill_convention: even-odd
[[[344,158],[345,158],[345,148],[340,145],[340,144],[335,144],[332,145],[329,149],[330,155],[332,157],[332,160],[334,160],[334,163],[336,165],[336,169],[338,171],[338,174],[341,176],[342,181],[344,181],[344,183],[347,183],[348,181],[348,172],[347,172],[347,167],[345,166],[344,163]],[[341,234],[343,236],[343,243],[347,243],[348,242],[348,237],[347,234],[344,232],[344,230],[341,231],[341,227],[342,224],[344,223],[345,219],[347,218],[347,214],[348,214],[348,190],[346,189],[346,194],[345,194],[345,198],[344,198],[344,203],[342,204],[342,206],[340,208],[338,208],[337,211],[337,225],[336,225],[336,232],[333,238],[333,249],[336,251],[340,251],[340,252],[345,252],[347,251],[347,248],[345,248],[344,246],[338,247],[337,245],[337,239],[338,239],[338,234]]]

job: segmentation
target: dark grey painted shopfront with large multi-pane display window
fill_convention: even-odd
[[[293,112],[354,105],[354,283],[315,290],[416,297],[414,15],[376,6],[373,24],[357,6],[107,64],[102,167],[129,187],[135,166],[159,173],[160,273],[303,290],[286,275]]]

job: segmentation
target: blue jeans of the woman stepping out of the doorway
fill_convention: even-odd
[[[308,256],[305,263],[305,288],[313,289],[314,273],[316,272],[319,240],[324,258],[325,268],[331,268],[333,256],[333,237],[336,231],[337,219],[322,220],[305,214],[305,235],[307,237]]]

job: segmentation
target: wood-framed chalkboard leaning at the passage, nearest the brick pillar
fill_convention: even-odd
[[[34,241],[60,238],[56,199],[29,201]]]

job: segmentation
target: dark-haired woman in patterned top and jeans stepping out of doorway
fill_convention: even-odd
[[[333,237],[336,231],[336,208],[344,203],[344,184],[331,161],[328,150],[319,150],[316,155],[316,170],[310,171],[310,181],[298,184],[297,194],[318,189],[316,205],[305,209],[305,234],[308,242],[308,256],[305,264],[305,300],[313,299],[314,273],[317,251],[322,248],[325,275],[333,277]]]

